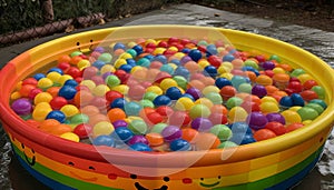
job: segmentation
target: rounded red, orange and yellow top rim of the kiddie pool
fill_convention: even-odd
[[[301,143],[313,136],[320,133],[322,130],[326,128],[332,128],[333,126],[333,118],[334,118],[334,102],[332,100],[333,97],[333,88],[331,87],[334,83],[334,74],[332,68],[322,61],[320,58],[315,57],[314,54],[295,47],[293,44],[243,31],[236,31],[230,29],[218,29],[218,28],[207,28],[207,27],[191,27],[191,26],[136,26],[136,27],[127,27],[126,29],[129,31],[165,31],[168,32],[168,29],[175,31],[177,29],[183,30],[193,30],[193,31],[200,31],[200,30],[218,30],[223,34],[225,34],[234,46],[239,49],[249,49],[254,48],[261,52],[272,52],[276,53],[285,59],[287,62],[293,62],[298,67],[305,69],[312,76],[316,76],[316,79],[324,87],[326,91],[326,101],[330,102],[327,109],[323,112],[321,117],[318,117],[314,122],[304,127],[301,130],[296,130],[289,132],[287,134],[262,141],[255,142],[252,144],[239,146],[238,148],[233,149],[216,149],[209,150],[205,152],[205,156],[197,161],[195,164],[197,166],[210,166],[217,164],[222,162],[235,162],[235,161],[243,161],[248,160],[252,158],[258,158],[262,156],[279,152],[288,147],[294,144]],[[139,166],[149,166],[151,160],[155,160],[156,157],[159,157],[161,160],[161,166],[165,167],[173,167],[175,163],[170,160],[177,160],[178,158],[191,158],[197,157],[198,153],[203,153],[200,151],[189,151],[189,152],[174,152],[174,153],[136,153],[134,154],[132,151],[128,150],[118,150],[110,148],[96,148],[85,143],[76,143],[65,139],[60,139],[52,134],[48,134],[28,127],[23,120],[21,120],[9,107],[9,97],[10,92],[13,90],[16,82],[23,77],[28,76],[28,71],[30,72],[31,69],[35,67],[31,62],[38,62],[41,59],[41,53],[43,52],[43,61],[51,61],[55,60],[55,56],[52,57],[51,52],[48,52],[50,49],[59,49],[63,50],[63,47],[59,44],[72,44],[69,43],[70,41],[77,41],[78,39],[86,39],[87,37],[92,37],[96,34],[108,36],[116,30],[125,29],[125,28],[108,28],[108,29],[99,29],[92,30],[81,33],[71,34],[68,37],[62,37],[47,43],[40,44],[36,48],[32,48],[13,60],[9,61],[7,66],[0,72],[0,88],[2,92],[0,94],[0,112],[1,112],[1,120],[7,126],[11,126],[13,130],[18,133],[21,133],[27,137],[27,139],[45,144],[46,147],[57,150],[63,153],[72,154],[75,157],[84,158],[84,159],[91,159],[91,160],[105,160],[101,156],[102,153],[112,156],[114,158],[118,158],[124,164],[139,164]],[[89,42],[88,42],[89,43]],[[87,46],[87,43],[82,44]],[[62,49],[61,49],[62,48]],[[33,60],[33,56],[39,53],[38,59]],[[314,64],[316,67],[314,67]],[[26,76],[24,76],[26,74]],[[10,80],[11,79],[11,80]],[[98,151],[97,151],[98,149]],[[222,160],[222,152],[230,152],[233,154],[226,159]],[[136,158],[136,159],[132,159]]]

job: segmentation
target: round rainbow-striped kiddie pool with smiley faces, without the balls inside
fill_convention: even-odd
[[[277,54],[293,68],[304,69],[324,88],[327,109],[307,126],[261,142],[206,151],[136,152],[78,143],[36,130],[10,108],[11,92],[20,80],[53,67],[61,54],[97,47],[108,37],[112,41],[120,37],[191,38],[217,32],[237,49]],[[282,190],[301,181],[321,158],[334,121],[333,76],[332,69],[312,53],[248,32],[189,26],[109,28],[56,39],[9,61],[0,74],[1,122],[20,163],[35,178],[57,190]]]

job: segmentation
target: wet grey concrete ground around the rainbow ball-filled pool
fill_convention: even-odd
[[[301,18],[303,19],[303,18]],[[245,14],[220,11],[196,4],[177,4],[166,9],[156,10],[131,18],[126,18],[96,26],[75,32],[86,30],[134,24],[191,24],[191,26],[210,26],[228,29],[248,31],[276,38],[278,40],[301,47],[317,57],[322,58],[331,67],[334,67],[334,32],[325,32],[318,29],[274,22],[272,20],[253,18]],[[65,33],[53,34],[21,44],[14,44],[0,49],[0,66],[21,52],[49,41],[55,38],[66,36]],[[334,189],[334,136],[331,136],[326,142],[325,153],[320,164],[298,184],[294,190],[330,190]],[[0,189],[32,190],[48,189],[40,182],[29,176],[14,158],[11,158],[10,147],[4,141],[3,131],[0,130]],[[11,162],[10,162],[11,160]]]

